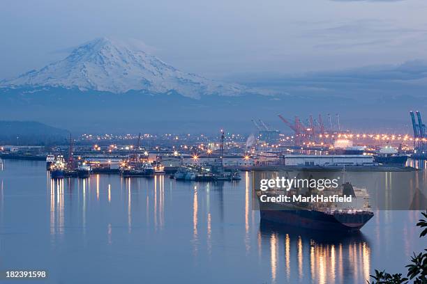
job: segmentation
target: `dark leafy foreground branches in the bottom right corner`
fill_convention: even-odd
[[[427,210],[421,212],[424,216],[423,219],[419,219],[417,226],[423,229],[419,237],[425,237],[427,235]],[[375,269],[375,275],[370,275],[374,280],[369,284],[402,284],[412,283],[414,284],[427,284],[427,248],[424,249],[424,253],[415,254],[411,258],[411,264],[407,265],[407,276],[403,277],[402,274],[389,274],[386,271],[378,271]]]

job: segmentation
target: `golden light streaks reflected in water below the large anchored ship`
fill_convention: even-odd
[[[362,233],[337,235],[262,221],[260,235],[262,251],[269,248],[273,283],[278,271],[299,282],[364,283],[369,278],[370,246]]]

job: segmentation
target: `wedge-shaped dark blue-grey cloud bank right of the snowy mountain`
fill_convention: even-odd
[[[410,105],[427,97],[427,61],[414,60],[398,65],[370,65],[361,68],[308,72],[298,76],[264,74],[234,78],[253,88],[262,86],[292,96],[342,97],[367,104],[398,100]],[[380,104],[381,106],[381,104]]]

